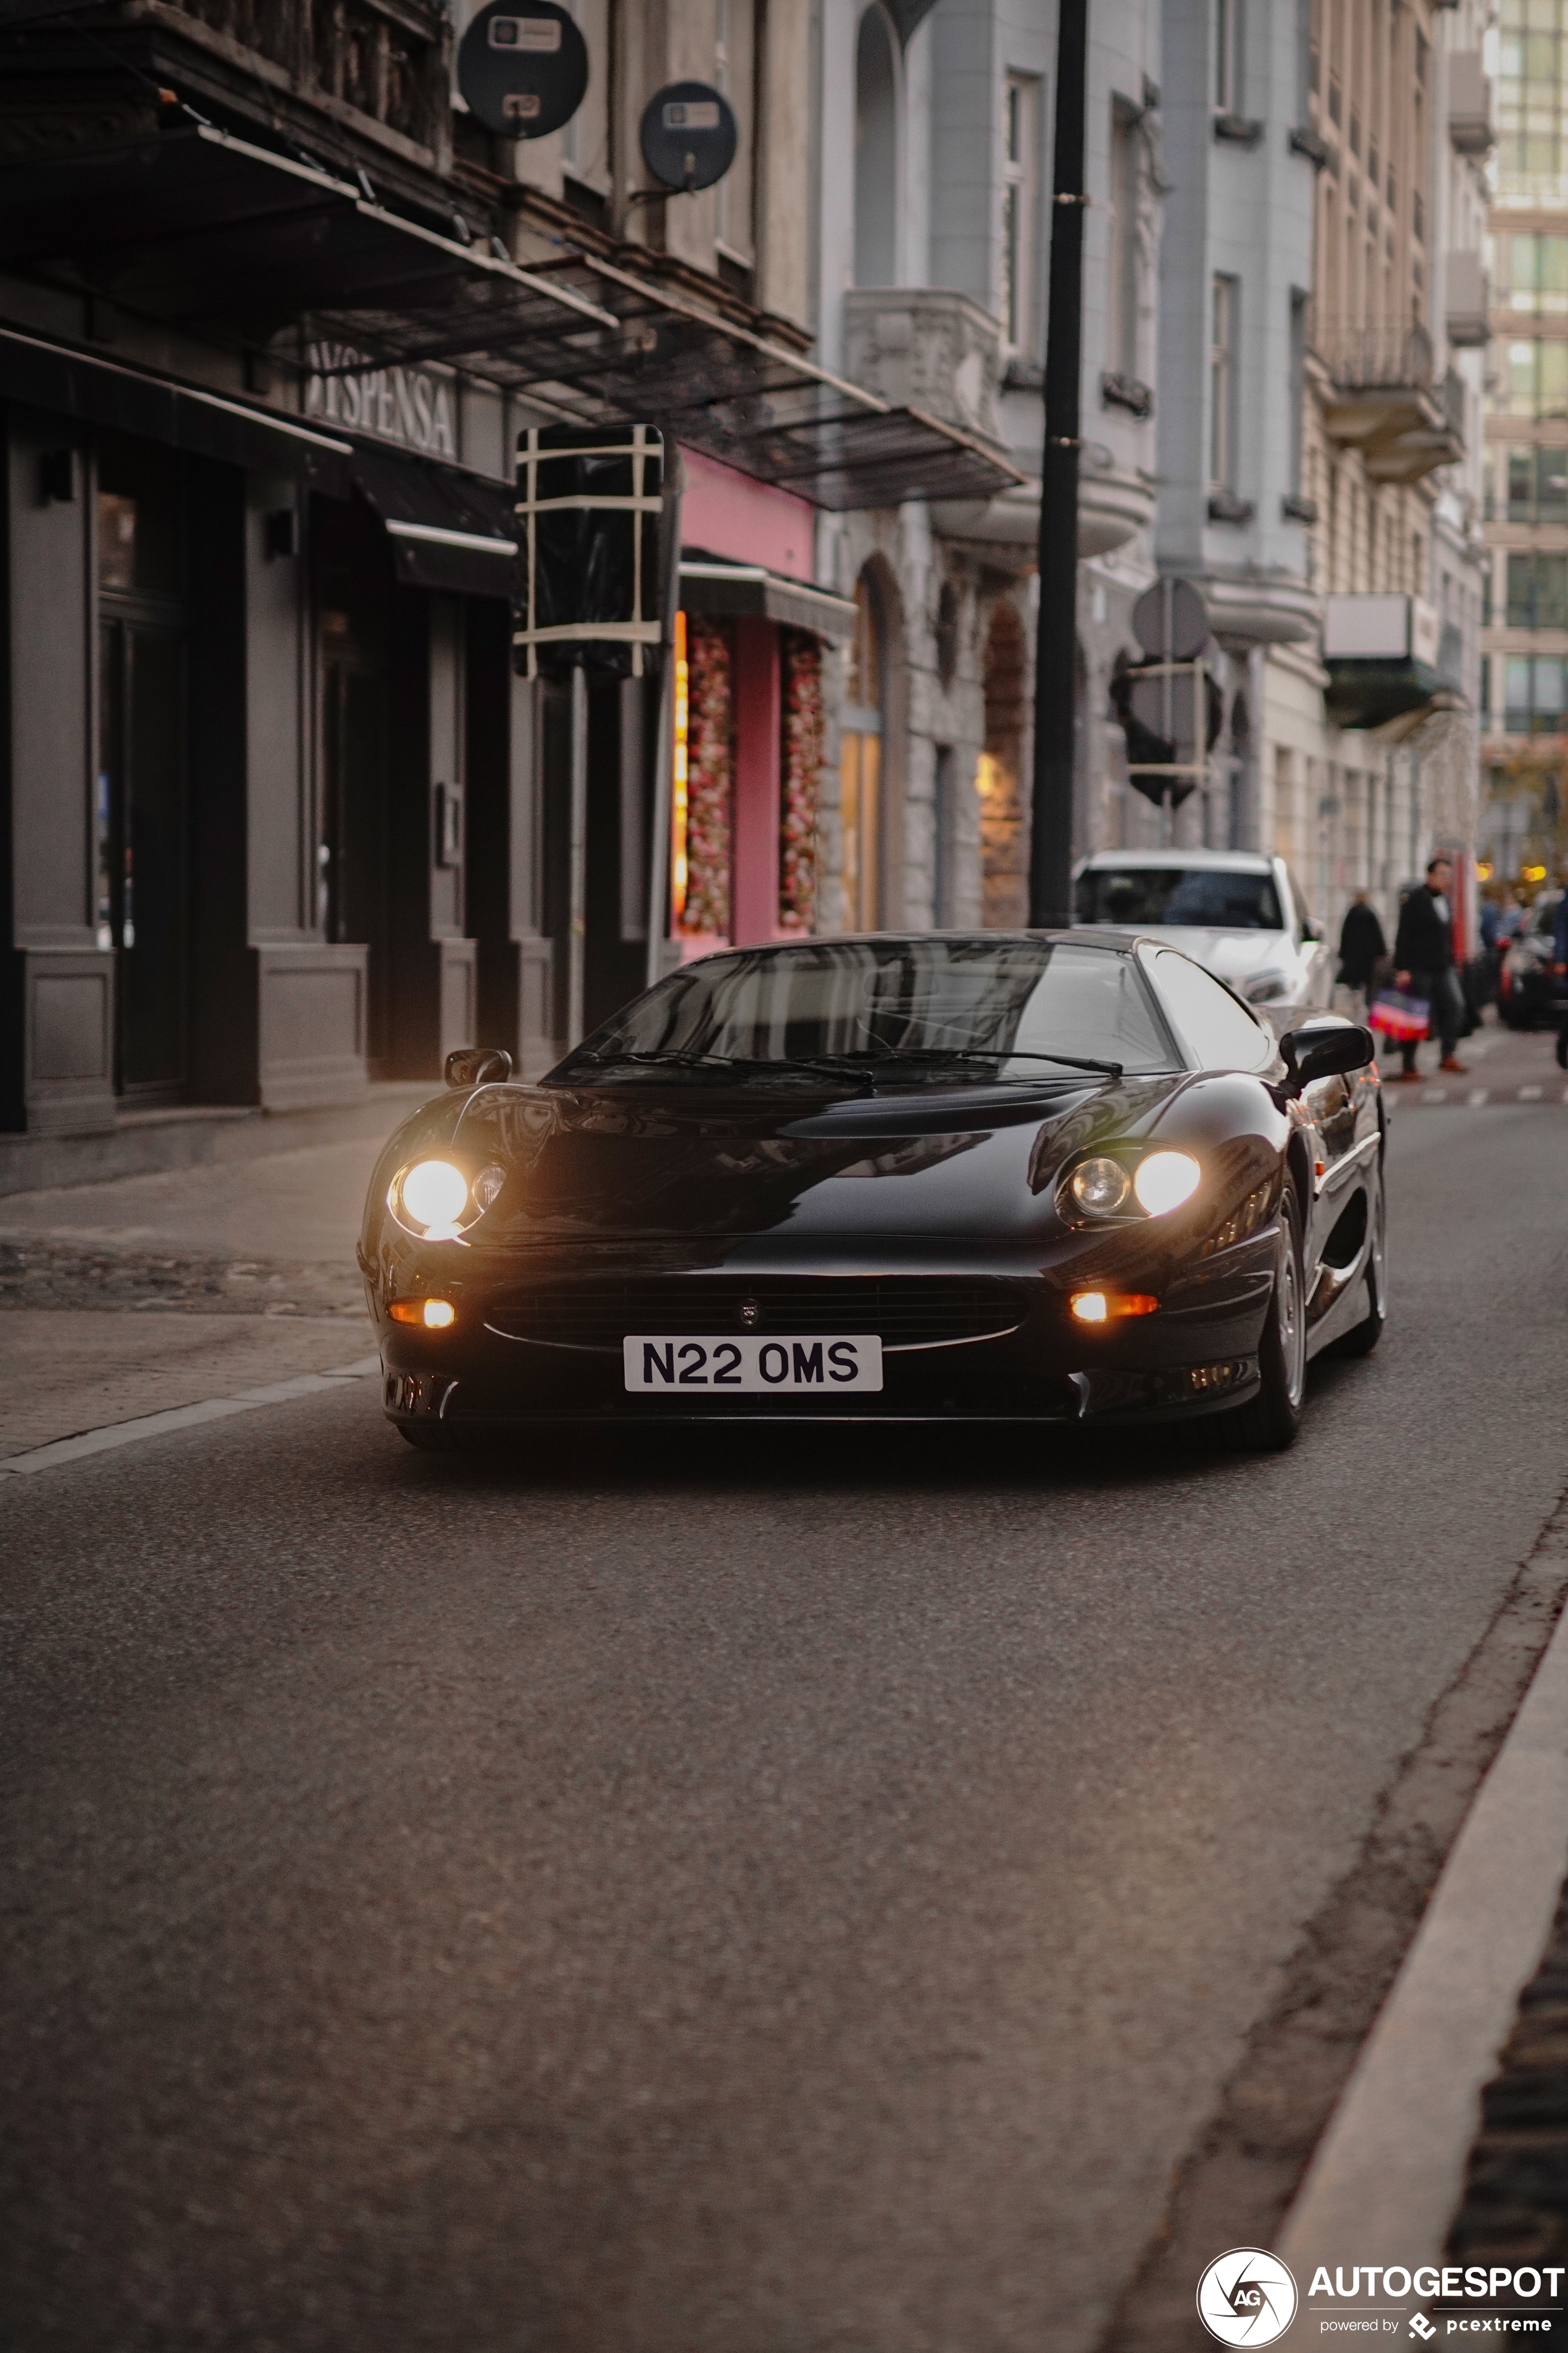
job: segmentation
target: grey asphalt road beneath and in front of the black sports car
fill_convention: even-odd
[[[9,1482],[7,2353],[1088,2353],[1568,1482],[1568,1111],[1392,1205],[1281,1459],[364,1384]]]

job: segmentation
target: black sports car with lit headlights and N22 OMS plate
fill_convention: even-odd
[[[1368,1031],[1126,932],[708,955],[536,1085],[463,1049],[360,1266],[416,1447],[498,1426],[1147,1421],[1295,1438],[1385,1315]]]

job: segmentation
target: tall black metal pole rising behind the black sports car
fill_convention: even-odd
[[[1072,920],[1072,746],[1079,600],[1079,367],[1084,344],[1084,78],[1088,0],[1058,0],[1046,447],[1039,468],[1039,628],[1030,922]]]

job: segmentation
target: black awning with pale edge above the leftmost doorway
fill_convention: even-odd
[[[353,449],[339,435],[141,367],[99,360],[71,344],[0,329],[0,395],[118,433],[143,433],[228,466],[310,482],[339,499],[350,492]]]

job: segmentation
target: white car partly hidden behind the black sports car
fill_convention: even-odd
[[[1328,1012],[1333,1000],[1333,953],[1284,859],[1098,849],[1077,868],[1074,915],[1182,948],[1274,1028]]]

